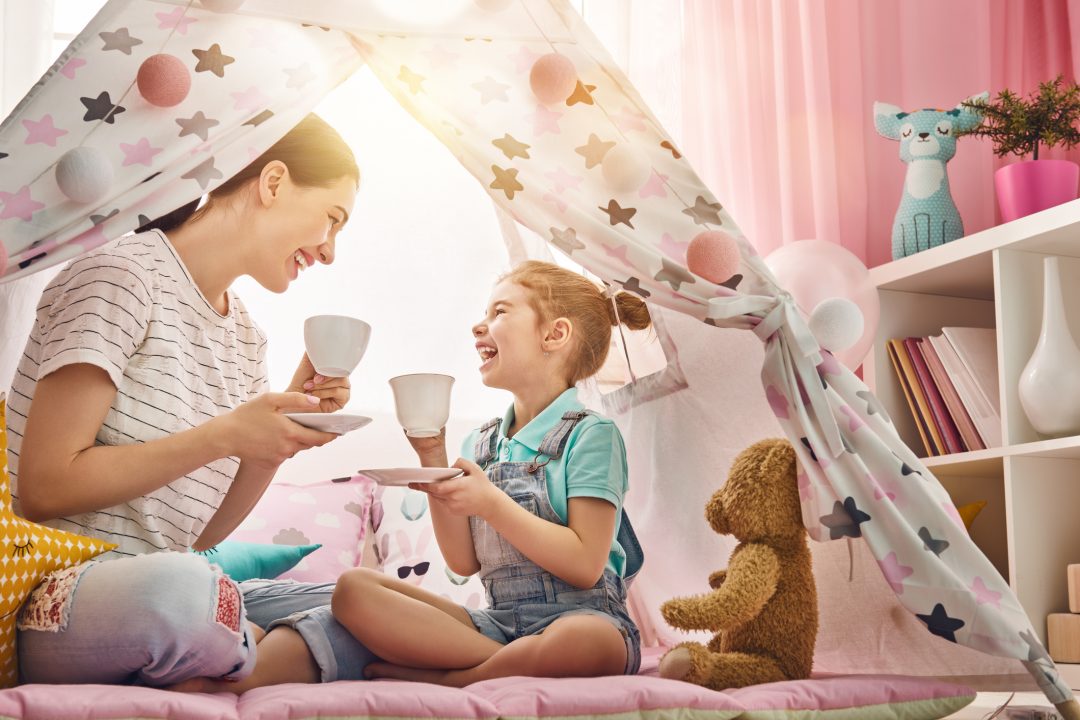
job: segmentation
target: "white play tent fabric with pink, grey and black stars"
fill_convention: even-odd
[[[573,64],[577,83],[543,104],[529,74],[552,52]],[[148,105],[133,84],[154,53],[191,73],[190,95],[173,108]],[[811,536],[864,539],[930,633],[1020,658],[1052,702],[1071,698],[948,494],[862,381],[818,345],[566,0],[246,0],[231,14],[188,0],[111,0],[0,126],[4,279],[213,189],[362,63],[510,217],[611,287],[757,334],[766,398],[799,457]],[[114,163],[110,192],[93,206],[66,200],[53,179],[80,145]],[[627,155],[647,171],[640,182],[625,177]],[[705,230],[728,232],[741,249],[721,284],[687,268],[687,247]]]

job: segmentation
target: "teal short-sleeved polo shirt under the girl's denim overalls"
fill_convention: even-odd
[[[584,409],[585,406],[578,402],[577,389],[570,388],[513,437],[507,437],[514,422],[514,406],[511,405],[499,424],[497,462],[530,462],[564,413]],[[462,458],[475,461],[473,451],[478,434],[480,430],[474,430],[465,437],[461,446]],[[596,415],[582,418],[570,431],[563,456],[549,462],[544,470],[548,472],[548,497],[564,524],[568,522],[569,498],[600,498],[615,505],[616,526],[607,567],[621,578],[626,554],[616,538],[622,519],[622,499],[627,490],[626,447],[615,422]]]

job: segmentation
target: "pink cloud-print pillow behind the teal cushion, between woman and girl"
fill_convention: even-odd
[[[307,583],[332,583],[363,559],[375,483],[355,476],[347,483],[271,483],[229,540],[322,547],[282,573]]]

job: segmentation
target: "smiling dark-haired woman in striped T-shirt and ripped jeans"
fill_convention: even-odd
[[[203,207],[73,260],[45,289],[10,400],[15,510],[118,547],[31,594],[24,680],[239,679],[257,642],[267,662],[291,658],[260,663],[271,678],[360,677],[370,656],[330,616],[333,584],[238,586],[188,553],[226,538],[285,459],[336,437],[283,413],[342,407],[349,380],[305,355],[286,392],[267,392],[266,338],[230,286],[251,275],[283,293],[333,262],[359,181],[349,147],[308,116]]]

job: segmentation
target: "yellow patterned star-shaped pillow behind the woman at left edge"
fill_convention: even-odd
[[[26,597],[51,572],[116,547],[113,543],[54,530],[17,517],[8,477],[8,403],[0,393],[0,688],[18,682],[15,617]]]

